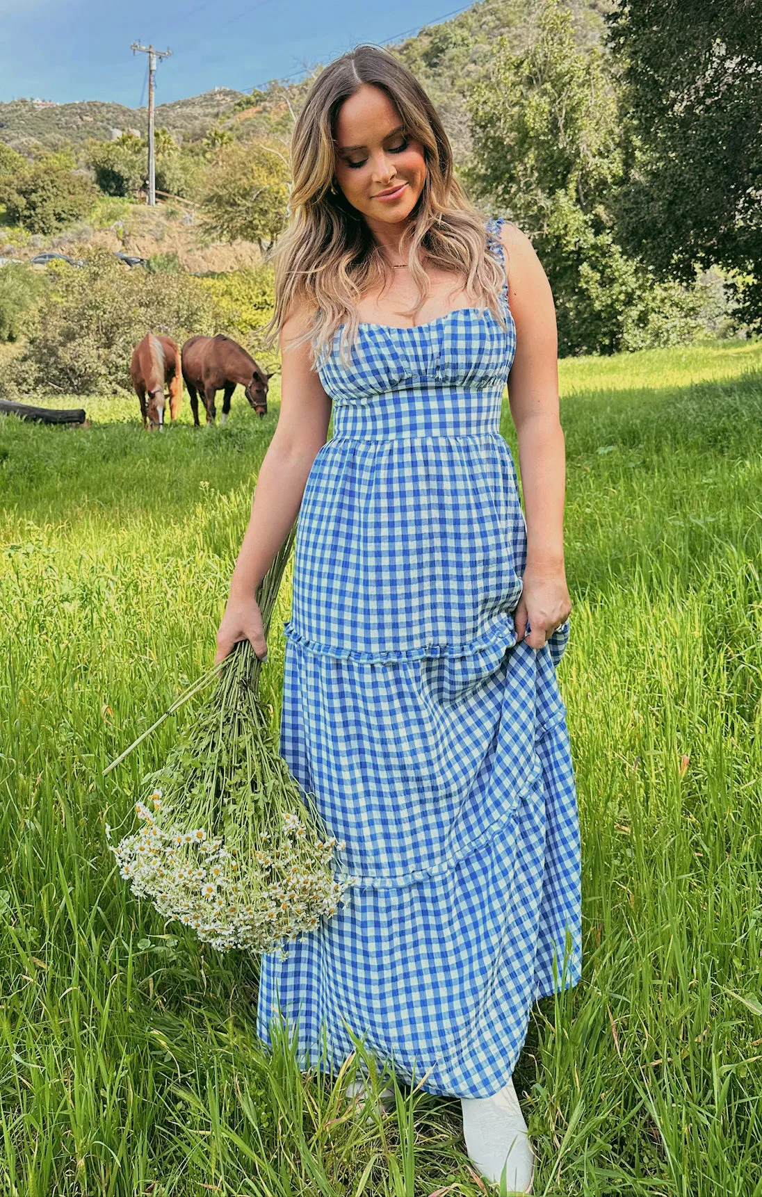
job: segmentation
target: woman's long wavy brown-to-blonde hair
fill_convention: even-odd
[[[418,286],[418,299],[405,315],[413,320],[429,293],[429,278],[419,261],[423,250],[440,268],[461,275],[466,293],[506,327],[498,300],[503,269],[486,251],[484,221],[454,177],[449,140],[436,109],[398,59],[379,45],[364,44],[331,62],[310,87],[291,138],[291,219],[272,254],[276,308],[265,335],[272,345],[289,311],[307,305],[312,322],[289,345],[310,340],[313,365],[329,352],[339,328],[340,356],[349,363],[359,323],[357,302],[382,285],[388,271],[362,213],[334,182],[339,110],[363,84],[387,93],[407,136],[424,147],[423,190],[400,238],[400,251],[407,254]]]

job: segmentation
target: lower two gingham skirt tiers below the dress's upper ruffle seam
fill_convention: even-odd
[[[289,621],[280,752],[359,880],[261,956],[258,1033],[302,1068],[347,1029],[398,1080],[482,1098],[510,1077],[537,998],[581,974],[580,838],[556,664],[497,612],[460,645],[338,651]]]

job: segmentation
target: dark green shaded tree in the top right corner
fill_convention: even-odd
[[[634,126],[622,236],[684,279],[750,272],[742,306],[762,326],[760,0],[619,0],[607,22]]]

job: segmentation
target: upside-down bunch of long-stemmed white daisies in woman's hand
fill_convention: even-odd
[[[256,601],[265,636],[295,537],[294,525]],[[164,764],[144,778],[139,827],[111,843],[121,876],[163,918],[214,948],[277,950],[315,930],[357,881],[334,875],[345,843],[327,834],[289,772],[259,700],[261,662],[248,640],[190,686],[104,772],[182,703],[214,681],[204,710]],[[309,803],[309,804],[308,804]]]

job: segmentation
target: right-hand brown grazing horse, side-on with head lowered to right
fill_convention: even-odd
[[[192,336],[182,347],[182,376],[190,395],[193,423],[199,424],[198,391],[206,408],[206,423],[213,424],[217,415],[214,396],[224,388],[220,424],[230,412],[230,399],[237,385],[243,387],[246,397],[259,415],[267,412],[267,383],[272,378],[246,352],[242,345],[218,333],[217,336]]]

